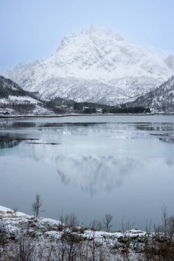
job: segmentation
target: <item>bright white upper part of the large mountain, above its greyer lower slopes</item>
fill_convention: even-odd
[[[65,36],[56,53],[45,63],[58,76],[102,82],[127,77],[150,77],[162,82],[173,70],[171,59],[164,60],[160,54],[94,25],[80,34]]]

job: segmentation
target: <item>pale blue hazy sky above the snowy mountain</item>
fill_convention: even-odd
[[[0,73],[49,57],[93,24],[174,54],[174,0],[0,0]]]

